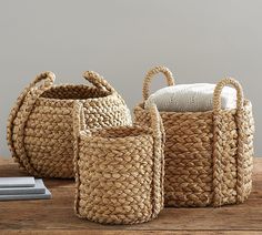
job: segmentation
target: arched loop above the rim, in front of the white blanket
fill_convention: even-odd
[[[233,78],[222,79],[215,85],[213,94],[213,110],[216,112],[221,110],[221,92],[225,85],[232,85],[236,90],[236,110],[241,110],[244,102],[243,89],[241,84]]]

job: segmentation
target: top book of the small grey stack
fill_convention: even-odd
[[[1,187],[33,187],[34,177],[0,177]]]

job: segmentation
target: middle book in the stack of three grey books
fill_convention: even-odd
[[[21,194],[43,194],[46,187],[42,180],[36,180],[33,187],[2,187],[0,188],[0,195],[21,195]]]

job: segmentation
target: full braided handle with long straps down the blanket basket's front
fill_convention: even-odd
[[[232,79],[226,78],[221,80],[215,89],[213,94],[213,111],[214,111],[214,127],[213,127],[213,186],[214,186],[214,194],[213,194],[213,206],[220,206],[222,204],[222,188],[221,185],[223,183],[223,149],[221,147],[221,142],[223,142],[223,116],[220,115],[221,111],[221,92],[225,85],[232,85],[236,90],[236,130],[238,130],[238,152],[236,152],[236,202],[244,201],[244,134],[243,134],[243,102],[244,95],[241,84]]]

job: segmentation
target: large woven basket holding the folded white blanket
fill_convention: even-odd
[[[150,82],[163,73],[174,85],[164,67],[148,72],[143,99]],[[233,110],[221,110],[221,91],[232,85],[238,93]],[[134,109],[135,122],[147,124],[144,101]],[[167,206],[220,206],[242,203],[252,186],[254,123],[250,101],[243,99],[240,83],[220,81],[213,94],[213,110],[206,112],[160,112],[165,130],[164,202]]]

